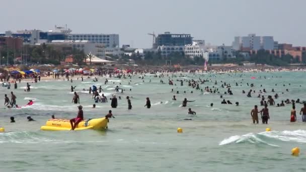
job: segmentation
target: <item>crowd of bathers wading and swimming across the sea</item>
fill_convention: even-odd
[[[242,74],[241,74],[242,75]],[[103,76],[103,74],[102,74]],[[119,77],[119,78],[131,78],[131,74],[122,74],[122,75],[117,75],[116,77]],[[202,75],[203,76],[203,75]],[[55,76],[56,77],[56,76]],[[111,74],[110,74],[110,77],[111,77]],[[142,82],[144,82],[144,77],[145,77],[145,74],[142,74],[141,76],[139,76],[140,79],[142,79]],[[212,79],[201,79],[200,77],[198,79],[176,79],[177,82],[175,82],[172,78],[176,78],[178,77],[178,75],[176,75],[176,73],[173,73],[171,76],[167,73],[167,74],[160,74],[160,75],[157,75],[155,74],[153,77],[159,77],[160,78],[160,83],[164,84],[164,77],[168,77],[168,83],[169,85],[171,86],[177,86],[177,83],[178,85],[181,85],[183,86],[184,83],[186,85],[188,85],[188,87],[190,87],[191,89],[194,89],[192,90],[190,93],[193,94],[195,92],[207,92],[207,93],[211,93],[211,94],[218,94],[220,95],[220,98],[222,99],[221,101],[221,104],[222,105],[233,105],[233,103],[230,101],[230,100],[225,100],[223,99],[223,93],[220,93],[221,89],[217,88],[217,85],[218,85],[218,82],[221,82],[219,83],[219,87],[222,88],[222,89],[226,89],[227,91],[224,92],[224,95],[228,95],[228,96],[233,96],[234,93],[232,92],[231,88],[232,88],[232,85],[230,83],[226,83],[226,82],[223,82],[222,80],[221,81],[217,81],[217,80],[212,80]],[[182,73],[180,73],[179,77],[184,77],[184,75]],[[71,81],[72,82],[72,78],[69,80],[69,76],[67,75],[66,76],[67,80],[68,81]],[[83,81],[83,76],[81,77],[82,78],[82,81]],[[261,77],[260,77],[261,78]],[[266,78],[266,77],[264,77]],[[79,78],[78,78],[79,79]],[[242,79],[243,80],[243,79]],[[98,78],[95,77],[94,82],[98,82]],[[129,84],[130,84],[131,80],[129,81]],[[149,82],[151,82],[151,79],[149,80]],[[204,89],[200,88],[200,85],[201,84],[204,84],[205,82],[212,82],[214,83],[214,86],[212,86],[211,88],[209,88],[208,86],[205,87]],[[105,80],[104,82],[105,84],[108,83],[108,79]],[[114,83],[114,82],[113,82]],[[17,83],[15,82],[16,84],[16,88],[17,88]],[[121,85],[121,83],[120,83]],[[247,94],[246,92],[243,90],[242,91],[242,94],[246,94],[246,96],[248,98],[252,98],[252,94],[256,94],[256,91],[254,90],[255,88],[255,84],[254,83],[247,83],[247,85],[249,87],[251,87],[252,89],[250,89]],[[277,85],[277,84],[275,84]],[[290,85],[290,84],[289,84]],[[26,92],[30,92],[30,84],[27,83],[27,86],[26,86]],[[236,87],[239,87],[239,86],[242,86],[242,82],[240,84],[238,84],[238,82],[236,82]],[[285,87],[285,85],[283,85]],[[70,87],[70,91],[71,92],[74,92],[74,95],[73,95],[73,98],[72,98],[72,101],[71,103],[74,103],[74,104],[80,104],[80,96],[78,95],[77,92],[75,92],[75,89],[76,89],[76,85],[73,87],[71,85]],[[260,87],[262,87],[262,85],[260,85]],[[300,86],[301,87],[301,86]],[[107,97],[102,94],[100,96],[100,94],[102,93],[103,89],[100,85],[99,88],[97,88],[96,86],[93,86],[93,87],[90,87],[89,90],[85,90],[83,89],[83,91],[89,91],[89,94],[92,94],[93,95],[93,99],[95,101],[95,104],[93,105],[93,108],[96,108],[96,103],[108,103],[108,99]],[[125,90],[120,88],[119,85],[117,85],[115,88],[114,88],[114,91],[115,92],[120,92],[123,93]],[[131,89],[130,89],[131,91]],[[171,90],[172,93],[176,93],[176,94],[179,94],[179,91],[174,91],[174,89]],[[289,92],[288,89],[286,89],[286,92]],[[186,91],[183,91],[183,93],[186,93]],[[290,112],[290,121],[291,122],[295,122],[296,121],[296,110],[295,110],[295,104],[297,103],[304,103],[303,101],[300,101],[299,99],[297,99],[296,101],[295,100],[289,100],[289,99],[286,99],[286,100],[282,100],[280,103],[275,103],[275,100],[278,99],[280,96],[276,93],[275,94],[275,90],[272,89],[271,90],[271,93],[273,94],[272,96],[267,96],[267,100],[266,98],[264,97],[263,94],[267,94],[267,90],[266,89],[261,89],[259,90],[258,92],[258,96],[257,98],[260,98],[260,106],[263,106],[263,108],[261,110],[258,110],[258,106],[255,105],[254,106],[254,109],[251,110],[251,117],[252,117],[252,121],[253,123],[259,123],[259,118],[258,118],[258,115],[260,113],[261,115],[261,119],[262,119],[262,123],[263,124],[267,124],[268,123],[268,120],[270,119],[270,114],[269,114],[269,109],[268,109],[268,106],[274,106],[276,105],[276,107],[283,107],[285,106],[285,104],[291,104],[292,105],[292,109],[291,109],[291,112]],[[237,94],[237,93],[235,93]],[[283,95],[284,93],[282,93]],[[133,97],[129,97],[129,96],[126,96],[125,99],[127,101],[127,109],[128,110],[131,110],[133,107],[132,107],[132,100],[131,98]],[[8,107],[18,107],[18,105],[16,105],[16,96],[13,94],[13,92],[11,92],[11,99],[8,98],[7,95],[5,95],[5,106],[8,106]],[[119,96],[118,97],[119,100],[121,100],[121,97]],[[274,100],[275,99],[275,100]],[[118,100],[117,100],[117,97],[116,95],[112,95],[111,98],[109,99],[111,101],[111,107],[112,108],[117,108],[118,107]],[[176,101],[177,100],[177,97],[174,95],[173,98],[172,98],[173,101]],[[188,103],[191,103],[191,102],[194,102],[192,100],[188,100],[187,98],[184,98],[183,101],[182,101],[182,107],[187,107],[187,104]],[[235,106],[239,106],[239,102],[235,102]],[[211,103],[210,107],[213,106],[213,103]],[[146,98],[146,103],[144,105],[144,107],[146,108],[151,108],[151,104],[150,104],[150,99],[147,97]],[[77,125],[80,121],[83,120],[83,110],[82,110],[82,106],[78,106],[79,108],[79,112],[78,112],[78,116],[77,118],[74,118],[74,119],[71,119],[70,122],[71,122],[71,129],[73,130],[75,128],[75,125]],[[196,115],[196,112],[193,111],[191,108],[188,108],[188,111],[187,111],[187,114],[190,114],[190,115]],[[301,108],[300,110],[300,115],[302,115],[302,121],[303,122],[306,122],[306,104],[304,103],[304,107]],[[109,112],[109,115],[107,115],[109,118],[113,117],[112,116],[112,113],[111,111]],[[32,118],[31,118],[32,119]],[[15,121],[14,119],[12,121]]]

